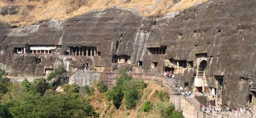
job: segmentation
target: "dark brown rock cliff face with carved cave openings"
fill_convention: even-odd
[[[256,90],[254,6],[252,0],[216,0],[164,18],[108,9],[63,23],[51,20],[10,29],[2,23],[0,49],[5,52],[0,63],[9,76],[42,76],[59,60],[70,73],[87,63],[94,71],[172,70],[187,90],[222,88],[222,105],[237,106]],[[15,47],[27,45],[61,45],[56,51],[60,55],[13,54]],[[64,56],[72,47],[97,48],[98,56]],[[84,49],[81,53],[86,53]],[[69,64],[63,63],[63,57]],[[204,85],[197,85],[200,78],[206,78]]]

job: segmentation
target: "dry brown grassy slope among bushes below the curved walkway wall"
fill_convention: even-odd
[[[142,98],[139,103],[137,103],[136,108],[130,110],[126,109],[125,103],[122,103],[120,108],[116,109],[111,102],[107,102],[103,94],[99,93],[99,91],[95,91],[91,105],[93,105],[94,108],[98,108],[97,112],[101,114],[101,118],[160,118],[161,114],[157,112],[157,104],[160,102],[157,98],[157,91],[168,92],[170,90],[161,87],[157,82],[149,82],[148,86],[143,90]],[[97,98],[100,98],[101,101],[97,101]],[[142,110],[142,105],[146,100],[149,100],[154,105],[148,113]],[[168,105],[169,102],[164,103]]]

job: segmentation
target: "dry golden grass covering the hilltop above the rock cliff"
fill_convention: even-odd
[[[186,9],[204,1],[207,0],[180,0],[178,3],[174,3],[173,0],[45,0],[43,4],[43,0],[15,0],[7,4],[6,0],[1,0],[0,7],[20,6],[20,12],[17,15],[0,15],[0,21],[12,25],[31,25],[42,19],[65,20],[111,6],[134,9],[142,16],[152,16]],[[25,10],[24,14],[27,6],[34,6],[34,9]]]

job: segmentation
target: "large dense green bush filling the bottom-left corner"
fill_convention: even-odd
[[[55,93],[41,96],[40,93],[26,92],[3,102],[0,109],[4,112],[0,112],[0,115],[6,118],[99,117],[90,103],[79,93],[67,95]]]

